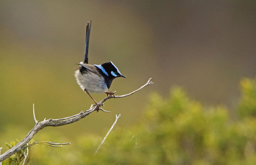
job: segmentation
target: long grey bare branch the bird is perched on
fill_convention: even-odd
[[[150,82],[151,78],[148,80],[148,82],[143,85],[142,87],[140,87],[139,89],[129,93],[129,94],[126,94],[126,95],[121,95],[121,96],[115,96],[115,98],[121,98],[121,97],[126,97],[126,96],[129,96],[129,95],[132,95],[133,93],[141,90],[142,88],[144,88],[145,86],[147,85],[151,85],[153,84],[153,82]],[[108,100],[109,98],[113,98],[113,96],[109,95],[108,97],[104,98],[103,100],[101,100],[99,102],[99,104],[103,107],[103,102],[105,102],[106,100]],[[98,109],[99,110],[99,109]],[[105,111],[103,109],[100,109],[104,112],[108,112],[108,111]],[[34,113],[34,109],[33,109],[33,114]],[[7,150],[6,152],[4,152],[2,155],[0,155],[0,162],[5,160],[6,158],[10,157],[11,155],[13,155],[15,152],[18,152],[20,150],[22,150],[22,148],[26,148],[26,144],[33,138],[33,136],[38,132],[40,131],[41,129],[43,129],[44,127],[47,127],[47,126],[52,126],[52,127],[57,127],[57,126],[62,126],[62,125],[66,125],[66,124],[71,124],[71,123],[74,123],[74,122],[77,122],[79,121],[80,119],[86,117],[87,115],[89,115],[90,113],[92,113],[93,111],[97,111],[97,107],[96,106],[91,106],[89,110],[87,111],[84,111],[84,112],[80,112],[76,115],[73,115],[73,116],[69,116],[69,117],[65,117],[65,118],[62,118],[62,119],[48,119],[48,120],[45,120],[44,121],[41,121],[39,123],[37,123],[33,129],[31,129],[31,131],[29,131],[29,133],[27,134],[27,136],[22,140],[20,141],[18,144],[16,144],[14,147],[10,148],[9,150]],[[34,120],[35,122],[37,121],[36,118],[35,118],[35,115],[34,115]],[[52,144],[50,144],[52,145]]]

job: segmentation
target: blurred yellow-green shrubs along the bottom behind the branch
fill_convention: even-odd
[[[33,164],[255,164],[256,81],[241,81],[238,120],[225,106],[203,107],[184,90],[174,88],[168,98],[150,98],[141,122],[114,127],[103,136],[75,135],[70,146],[36,146]],[[123,116],[124,117],[124,116]],[[122,120],[122,116],[119,120]],[[107,132],[107,131],[106,131]],[[42,141],[44,135],[40,136]]]

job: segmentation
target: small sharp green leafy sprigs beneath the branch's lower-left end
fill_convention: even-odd
[[[9,143],[5,143],[7,146],[7,149],[11,149],[13,148],[13,146],[15,146],[16,144],[19,143],[19,140],[16,139],[15,142],[11,142]],[[33,140],[31,140],[28,144],[33,143]],[[2,161],[3,165],[19,165],[22,164],[24,161],[24,153],[27,153],[27,148],[20,150],[19,152],[16,152],[15,154],[13,154],[12,156],[10,156],[9,158],[5,159],[4,161]],[[28,157],[26,158],[26,162],[25,164],[27,164],[29,162],[29,155],[31,155],[31,150],[29,147],[29,154]]]

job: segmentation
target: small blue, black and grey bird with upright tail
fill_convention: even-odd
[[[91,99],[95,103],[94,105],[99,110],[99,107],[101,105],[92,98],[90,93],[106,93],[107,96],[114,96],[114,92],[112,92],[112,90],[110,92],[107,92],[110,88],[112,81],[117,77],[126,77],[120,73],[120,71],[112,63],[112,61],[100,65],[88,64],[88,50],[91,25],[92,21],[90,22],[90,24],[89,22],[87,22],[84,61],[80,63],[74,63],[80,65],[78,68],[74,68],[77,69],[74,76],[76,78],[77,84],[84,92],[86,92],[91,97]]]

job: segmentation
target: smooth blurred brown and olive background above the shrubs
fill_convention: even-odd
[[[231,120],[238,118],[239,82],[256,75],[253,0],[1,0],[0,147],[23,139],[33,128],[33,103],[39,121],[71,116],[93,103],[76,84],[72,69],[83,60],[90,20],[89,63],[111,60],[127,77],[113,81],[116,95],[139,88],[151,77],[154,84],[105,102],[104,109],[112,113],[92,113],[70,125],[44,128],[35,141],[72,144],[92,134],[103,139],[115,114],[121,114],[117,127],[132,127],[142,121],[152,92],[164,100],[174,86],[183,87],[203,106],[223,105]],[[105,94],[92,96],[99,101]]]

